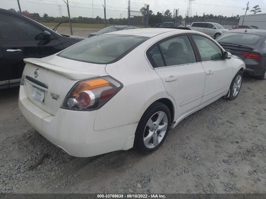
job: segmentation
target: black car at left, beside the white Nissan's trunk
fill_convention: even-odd
[[[86,38],[59,35],[21,14],[0,9],[0,89],[20,85],[24,58],[42,58]]]

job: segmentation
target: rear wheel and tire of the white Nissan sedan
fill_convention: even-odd
[[[133,148],[144,155],[154,152],[165,140],[170,125],[169,108],[161,102],[154,102],[139,120]]]

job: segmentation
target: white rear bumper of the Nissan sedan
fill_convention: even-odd
[[[91,157],[133,147],[137,123],[94,131],[97,111],[59,108],[51,115],[28,99],[24,86],[20,86],[19,108],[33,128],[71,156]]]

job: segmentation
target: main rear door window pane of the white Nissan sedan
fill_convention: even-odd
[[[195,55],[188,36],[178,36],[159,44],[166,66],[195,63]]]

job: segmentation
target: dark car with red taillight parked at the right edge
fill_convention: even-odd
[[[235,29],[219,36],[216,41],[245,64],[245,75],[266,79],[266,30]]]

